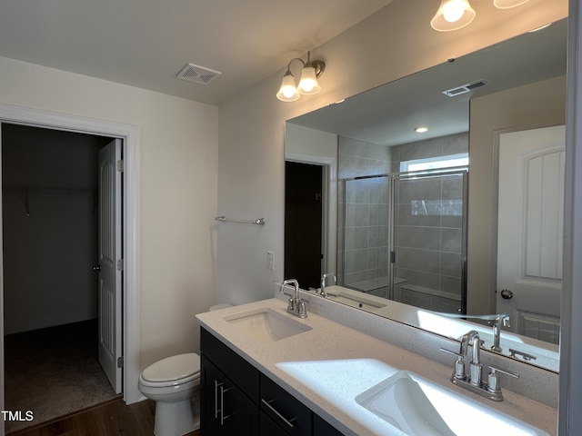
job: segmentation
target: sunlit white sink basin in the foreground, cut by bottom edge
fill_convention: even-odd
[[[357,395],[356,402],[410,436],[547,435],[413,372],[396,372]]]

